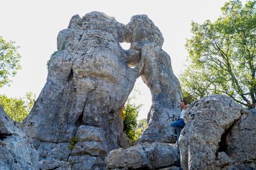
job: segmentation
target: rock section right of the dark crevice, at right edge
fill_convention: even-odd
[[[243,116],[227,132],[223,151],[237,169],[256,169],[256,114],[243,110]]]

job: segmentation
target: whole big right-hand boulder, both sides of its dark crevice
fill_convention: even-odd
[[[255,168],[255,118],[224,95],[193,102],[179,140],[182,169]]]

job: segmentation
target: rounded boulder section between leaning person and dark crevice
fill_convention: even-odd
[[[225,95],[193,102],[185,114],[186,126],[179,140],[182,169],[220,169],[231,164],[228,154],[218,153],[219,144],[240,116],[241,106]]]

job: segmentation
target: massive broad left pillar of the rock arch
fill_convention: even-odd
[[[124,24],[100,12],[75,15],[68,29],[60,31],[47,82],[23,122],[40,160],[72,160],[72,169],[104,169],[109,151],[130,146],[120,109],[141,74],[143,59],[129,67],[120,46],[124,35]],[[74,137],[78,142],[69,150]]]

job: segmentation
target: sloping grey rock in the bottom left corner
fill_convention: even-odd
[[[0,106],[0,169],[38,169],[32,141]]]

